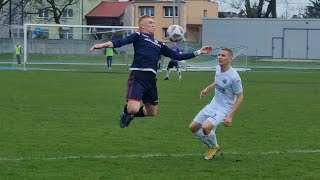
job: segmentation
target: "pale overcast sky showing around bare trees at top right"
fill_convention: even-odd
[[[232,2],[244,2],[244,0],[213,0],[219,3],[219,11],[235,11],[228,3]],[[251,2],[258,2],[258,0],[251,0]],[[227,3],[224,3],[227,2]],[[304,13],[306,6],[310,5],[309,0],[277,0],[277,15],[278,17],[291,18],[294,14]]]

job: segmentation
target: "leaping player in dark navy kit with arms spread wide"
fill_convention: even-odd
[[[179,54],[154,38],[155,21],[151,16],[142,16],[138,24],[139,30],[137,32],[123,39],[95,44],[89,49],[89,51],[93,51],[95,49],[117,48],[133,44],[134,59],[130,67],[131,73],[127,83],[127,103],[120,114],[121,128],[129,126],[135,117],[156,115],[158,109],[156,74],[158,60],[161,55],[177,60],[185,60],[212,52],[212,47],[203,46],[195,52]],[[141,105],[141,101],[143,105]]]

